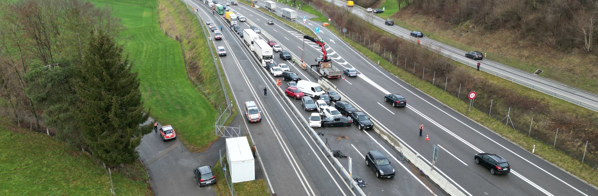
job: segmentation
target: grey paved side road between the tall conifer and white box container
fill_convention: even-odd
[[[236,127],[242,118],[235,118],[231,126]],[[144,124],[153,121],[149,118]],[[158,128],[162,124],[158,122]],[[176,130],[176,127],[174,127]],[[243,130],[244,131],[244,130]],[[226,153],[225,139],[219,138],[208,150],[201,153],[190,152],[178,139],[163,141],[160,133],[145,135],[137,151],[147,169],[155,195],[216,195],[212,186],[199,188],[193,178],[193,169],[199,166],[214,166],[218,161],[218,151]],[[256,160],[257,162],[258,160]],[[255,178],[263,179],[259,163],[255,164]],[[224,180],[224,179],[216,179]]]

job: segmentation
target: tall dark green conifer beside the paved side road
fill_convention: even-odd
[[[135,148],[149,128],[142,106],[137,73],[131,72],[123,48],[103,33],[91,35],[75,90],[80,98],[77,120],[92,155],[109,166],[132,163]]]

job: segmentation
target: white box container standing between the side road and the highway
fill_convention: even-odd
[[[247,137],[227,138],[226,158],[233,183],[255,180],[255,160]]]

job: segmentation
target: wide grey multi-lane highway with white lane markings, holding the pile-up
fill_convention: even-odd
[[[211,10],[199,2],[188,2],[195,4],[194,7],[202,8],[198,13],[204,20],[212,20],[219,26],[226,27],[220,15],[212,14]],[[271,19],[267,14],[242,4],[231,8],[260,27],[260,36],[264,38],[263,35],[269,35],[295,57],[300,57],[303,53],[307,60],[315,59],[321,54],[319,47],[312,42],[305,42],[303,36],[291,28],[279,23],[266,24],[266,21]],[[246,29],[248,25],[241,23],[241,27]],[[297,123],[298,118],[306,118],[309,113],[304,112],[303,117],[295,117],[292,112],[288,112],[289,106],[282,101],[286,98],[274,90],[275,79],[257,65],[236,33],[230,30],[224,30],[223,33],[224,40],[215,43],[216,46],[227,48],[228,56],[222,57],[221,61],[237,105],[241,108],[243,102],[255,100],[263,109],[263,122],[246,126],[264,163],[271,191],[281,195],[355,194],[324,157],[324,153],[319,151],[313,139],[306,134],[306,130]],[[340,93],[364,109],[364,112],[374,119],[374,123],[393,133],[428,162],[431,162],[432,145],[440,146],[437,169],[466,195],[598,195],[598,190],[590,185],[446,108],[442,103],[378,68],[327,30],[323,30],[319,36],[324,40],[333,40],[327,42],[327,48],[336,66],[341,69],[356,68],[361,73],[356,78],[347,78],[346,81],[332,79],[331,82],[338,87]],[[277,57],[277,54],[274,57]],[[275,62],[292,64],[278,58],[275,58]],[[315,81],[310,73],[295,67],[291,69],[300,73],[303,79]],[[268,97],[263,96],[264,87],[269,91]],[[401,93],[407,97],[408,106],[390,107],[383,102],[384,94],[388,93]],[[297,108],[301,108],[299,102],[293,103]],[[426,141],[419,137],[419,124],[425,124],[424,133],[430,134],[431,140]],[[364,177],[370,184],[364,188],[364,192],[371,192],[373,195],[444,194],[428,179],[414,175],[413,171],[417,169],[392,158],[396,151],[375,133],[359,131],[354,127],[322,128],[318,131],[325,134],[321,137],[323,140],[328,139],[331,149],[339,149],[353,157],[353,174]],[[373,172],[364,166],[360,157],[371,149],[378,149],[389,157],[396,169],[395,178],[372,177]],[[512,173],[494,176],[487,169],[475,165],[472,161],[473,156],[479,152],[496,153],[506,158],[512,166]],[[341,160],[341,163],[347,164],[346,160]]]

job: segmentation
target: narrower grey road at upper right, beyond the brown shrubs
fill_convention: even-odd
[[[338,7],[346,7],[346,1],[324,1],[334,2],[334,4]],[[386,19],[376,17],[375,14],[366,12],[364,8],[359,7],[358,5],[355,5],[354,8],[350,9],[350,12],[352,14],[355,14],[355,16],[360,17],[361,19],[364,19],[366,21],[369,20],[370,23],[374,24],[380,29],[386,30],[387,32],[392,33],[393,35],[398,36],[399,38],[407,39],[411,42],[416,42],[418,39],[409,35],[411,30],[404,29],[403,27],[396,25],[387,26],[384,24]],[[421,40],[422,45],[429,47],[431,50],[437,53],[443,54],[444,56],[448,56],[451,59],[464,63],[465,65],[475,67],[477,62],[480,61],[482,63],[483,71],[501,76],[502,78],[508,79],[509,81],[517,82],[518,84],[525,85],[527,87],[533,88],[534,90],[541,91],[542,93],[559,97],[560,99],[572,102],[576,105],[580,105],[598,112],[598,94],[590,93],[588,91],[581,90],[579,88],[575,88],[557,81],[553,81],[551,79],[544,78],[542,76],[538,76],[526,71],[521,71],[520,69],[515,69],[509,67],[508,65],[503,65],[501,63],[494,62],[486,58],[484,60],[472,60],[466,58],[465,53],[469,51],[459,50],[457,48],[451,47],[450,45],[443,44],[426,36],[419,39]]]

